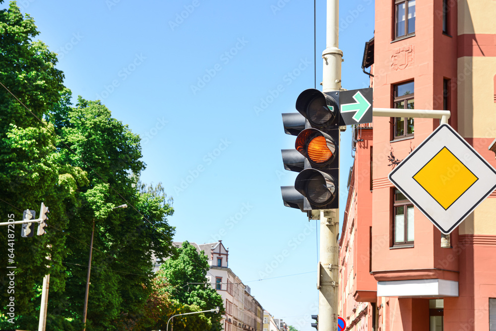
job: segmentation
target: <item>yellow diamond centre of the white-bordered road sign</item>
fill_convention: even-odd
[[[413,179],[445,210],[478,180],[446,147],[422,167]]]

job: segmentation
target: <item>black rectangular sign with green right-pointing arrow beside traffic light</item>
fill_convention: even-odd
[[[339,92],[339,125],[372,122],[372,88]]]

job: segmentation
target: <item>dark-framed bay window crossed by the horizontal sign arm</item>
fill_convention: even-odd
[[[413,98],[414,82],[406,82],[394,85],[394,108],[396,109],[414,109],[415,102]],[[394,118],[394,139],[413,136],[413,118],[395,117]]]

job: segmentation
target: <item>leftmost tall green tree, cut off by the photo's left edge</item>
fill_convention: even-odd
[[[0,0],[0,3],[3,1]],[[78,167],[61,162],[57,153],[58,139],[53,125],[44,117],[59,103],[63,90],[62,71],[55,68],[56,54],[41,41],[33,41],[39,32],[34,20],[23,16],[14,1],[0,10],[0,82],[29,110],[0,86],[0,214],[22,218],[22,209],[39,213],[43,201],[50,207],[50,222],[65,229],[67,204],[75,201],[78,186],[87,185],[86,173]],[[19,210],[19,209],[21,210]],[[67,256],[65,235],[50,231],[42,237],[21,238],[21,226],[15,226],[15,323],[0,316],[0,329],[12,329],[21,324],[28,329],[37,325],[40,287],[43,276],[51,272],[51,291],[63,291],[65,268],[53,263],[48,271],[49,254],[53,261]],[[7,227],[0,229],[0,249],[7,252]],[[51,247],[47,247],[50,244]],[[7,265],[7,255],[0,254],[0,265]],[[8,277],[0,276],[0,308],[11,296],[6,291]]]

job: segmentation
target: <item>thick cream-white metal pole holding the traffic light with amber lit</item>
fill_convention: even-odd
[[[322,58],[322,92],[341,90],[343,52],[339,49],[338,0],[327,0],[326,48],[322,52]],[[319,331],[338,330],[338,232],[339,209],[320,210],[320,261],[317,270]]]

